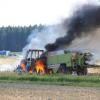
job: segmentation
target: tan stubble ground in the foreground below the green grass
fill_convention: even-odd
[[[0,83],[0,100],[100,100],[100,88]]]

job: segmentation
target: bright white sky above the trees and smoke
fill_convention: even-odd
[[[90,1],[99,0],[0,0],[0,26],[59,23]]]

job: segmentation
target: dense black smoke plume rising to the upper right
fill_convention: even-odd
[[[55,43],[47,44],[45,46],[47,51],[68,47],[76,38],[91,35],[91,31],[100,27],[100,6],[82,6],[71,18],[64,20],[63,27],[66,29],[66,35],[56,39]]]

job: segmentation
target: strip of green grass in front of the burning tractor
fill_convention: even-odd
[[[0,82],[100,87],[100,76],[0,74]]]

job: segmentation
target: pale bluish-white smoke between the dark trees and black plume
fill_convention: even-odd
[[[34,30],[27,39],[27,45],[23,48],[23,53],[25,54],[29,49],[44,50],[46,44],[53,43],[58,37],[64,36],[64,31],[61,25],[48,25],[41,30]]]

